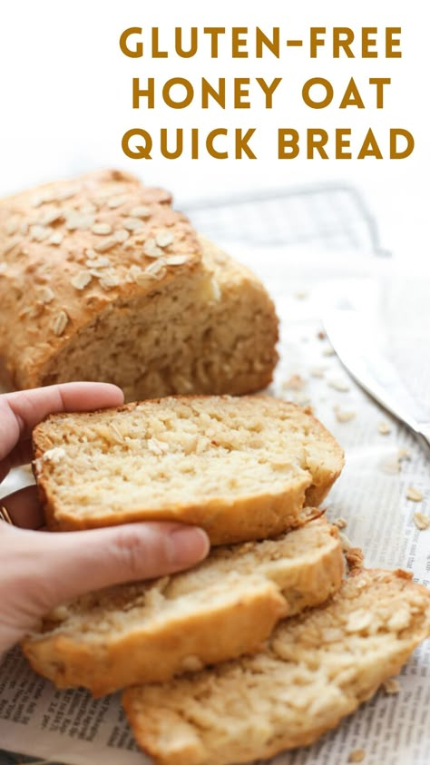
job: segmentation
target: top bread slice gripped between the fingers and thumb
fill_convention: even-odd
[[[167,397],[51,415],[34,429],[51,528],[174,520],[212,544],[278,535],[319,505],[343,452],[317,419],[272,397]]]

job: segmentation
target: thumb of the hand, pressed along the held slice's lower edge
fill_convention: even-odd
[[[5,533],[9,537],[8,557],[13,551],[14,558],[9,587],[15,591],[15,604],[23,603],[33,620],[90,590],[187,568],[209,551],[202,529],[181,524],[129,524],[62,534],[2,526],[4,542]]]

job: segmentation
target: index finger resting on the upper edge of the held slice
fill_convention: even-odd
[[[0,474],[10,452],[46,415],[118,407],[123,400],[121,388],[93,382],[35,387],[0,396]]]

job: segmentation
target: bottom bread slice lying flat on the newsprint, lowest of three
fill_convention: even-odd
[[[333,600],[277,627],[266,653],[125,691],[161,765],[227,765],[308,745],[370,698],[430,633],[430,592],[405,572],[361,571]]]

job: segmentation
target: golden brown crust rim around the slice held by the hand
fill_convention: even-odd
[[[71,415],[54,415],[46,417],[44,422],[34,428],[34,464],[37,466],[35,476],[38,485],[39,496],[44,507],[47,525],[54,531],[71,531],[73,529],[97,528],[104,525],[120,525],[123,523],[142,520],[173,520],[191,525],[200,525],[210,536],[211,544],[233,544],[253,539],[263,539],[267,536],[279,535],[287,528],[294,527],[298,522],[300,510],[308,505],[308,497],[311,496],[318,503],[331,485],[337,479],[343,466],[343,451],[337,441],[328,433],[315,417],[304,413],[300,407],[288,402],[279,401],[271,397],[257,396],[247,399],[231,399],[230,397],[169,397],[166,399],[152,399],[147,402],[135,402],[104,410],[102,412],[90,412],[76,415],[76,421],[84,427],[85,419],[89,421],[99,417],[111,417],[112,413],[132,412],[136,407],[142,407],[142,411],[151,412],[155,416],[153,407],[175,407],[181,402],[211,401],[216,400],[217,405],[222,407],[225,401],[227,406],[240,409],[252,405],[265,407],[265,415],[277,417],[279,412],[293,413],[299,422],[305,422],[307,432],[313,434],[308,439],[311,456],[309,458],[308,471],[301,471],[300,475],[294,476],[294,480],[285,483],[282,492],[270,492],[260,490],[251,495],[231,496],[220,488],[219,495],[205,498],[204,501],[197,499],[195,503],[190,500],[183,502],[169,502],[168,506],[151,509],[145,505],[137,507],[133,505],[127,509],[122,505],[121,512],[112,513],[104,507],[94,507],[92,513],[78,514],[73,508],[69,510],[55,498],[55,482],[50,479],[50,466],[44,460],[44,453],[53,445],[59,446],[60,442],[53,440],[54,429],[50,432],[51,425],[55,428],[55,422]],[[267,411],[266,411],[267,410]],[[225,415],[228,417],[228,415]],[[288,428],[288,426],[287,426]],[[288,432],[288,431],[287,431]],[[315,463],[314,441],[318,441],[325,448],[329,461],[324,465],[321,454],[318,456],[318,464]],[[326,454],[324,455],[326,456]],[[317,504],[315,502],[315,504]]]

